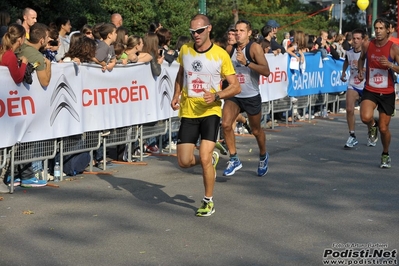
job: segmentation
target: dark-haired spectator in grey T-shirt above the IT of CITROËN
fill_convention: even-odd
[[[95,62],[102,66],[102,70],[111,71],[116,64],[115,50],[112,44],[116,41],[116,27],[114,24],[101,24],[94,29],[94,36],[98,32],[101,40],[98,42]]]

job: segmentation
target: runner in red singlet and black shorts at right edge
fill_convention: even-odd
[[[374,21],[375,39],[363,42],[358,61],[359,80],[366,78],[360,103],[360,118],[369,128],[368,144],[375,146],[378,129],[381,134],[381,168],[391,167],[389,123],[395,110],[395,87],[393,73],[399,73],[399,46],[389,38],[389,22],[378,18]],[[367,59],[366,71],[364,61]],[[366,73],[364,75],[363,73]],[[378,110],[378,122],[374,120],[374,109]]]

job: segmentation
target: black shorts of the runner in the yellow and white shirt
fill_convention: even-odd
[[[196,144],[198,138],[216,142],[219,133],[220,117],[211,115],[201,118],[186,118],[180,120],[177,144]]]

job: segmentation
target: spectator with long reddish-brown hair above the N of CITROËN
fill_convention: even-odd
[[[143,52],[148,53],[151,55],[151,72],[154,77],[157,77],[161,74],[161,65],[163,62],[163,55],[161,56],[159,54],[159,39],[156,33],[148,33],[144,37],[144,46],[143,46]],[[139,57],[139,62],[142,62]]]

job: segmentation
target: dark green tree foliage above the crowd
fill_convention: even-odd
[[[389,15],[389,5],[395,0],[381,1],[379,15]],[[199,1],[185,0],[2,0],[0,8],[7,10],[12,21],[22,19],[22,10],[31,7],[38,13],[38,21],[49,24],[58,16],[71,19],[72,26],[77,19],[85,16],[88,23],[109,22],[112,13],[120,13],[123,25],[130,34],[144,35],[151,22],[160,22],[173,33],[172,45],[180,35],[189,36],[190,19],[198,13]],[[282,40],[283,32],[291,29],[303,30],[308,34],[318,35],[320,30],[334,29],[338,31],[339,21],[329,20],[329,12],[323,11],[314,15],[323,7],[317,4],[303,4],[299,0],[207,0],[207,15],[210,17],[213,31],[212,37],[222,38],[229,25],[237,19],[247,19],[253,29],[260,30],[269,19],[280,24],[278,39]],[[359,21],[361,16],[356,4],[348,5],[345,10],[343,32],[357,27],[364,27]],[[75,25],[76,26],[76,25]]]

